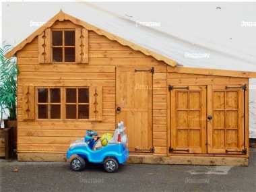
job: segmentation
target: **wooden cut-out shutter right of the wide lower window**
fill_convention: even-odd
[[[102,87],[90,87],[90,121],[103,121],[102,117]]]

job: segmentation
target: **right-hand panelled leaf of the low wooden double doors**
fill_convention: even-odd
[[[212,87],[212,88],[211,88]],[[210,86],[207,98],[208,153],[243,154],[244,149],[244,90],[241,85]]]

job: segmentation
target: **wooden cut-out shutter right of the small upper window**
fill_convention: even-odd
[[[75,29],[75,62],[88,63],[88,30]]]

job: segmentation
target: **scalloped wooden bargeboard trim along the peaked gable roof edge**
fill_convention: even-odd
[[[97,34],[106,36],[110,40],[117,40],[117,42],[119,42],[119,43],[121,43],[123,45],[129,46],[129,47],[131,47],[131,49],[134,49],[135,51],[141,51],[145,55],[150,55],[150,56],[154,57],[158,61],[164,61],[165,63],[167,63],[168,65],[170,65],[172,67],[177,65],[177,62],[173,61],[172,59],[169,59],[168,57],[164,57],[163,55],[155,53],[154,51],[150,51],[150,50],[144,48],[143,46],[139,46],[138,44],[129,42],[129,40],[125,40],[125,39],[123,39],[123,38],[121,38],[119,36],[116,36],[115,34],[110,34],[109,32],[106,32],[105,30],[102,30],[100,28],[96,28],[95,26],[92,26],[91,24],[88,24],[88,23],[86,23],[86,22],[84,22],[82,20],[79,20],[77,18],[74,18],[73,16],[68,15],[67,13],[63,13],[62,10],[59,11],[59,13],[57,15],[55,15],[53,18],[51,18],[51,20],[46,22],[49,25],[45,25],[45,26],[40,27],[38,30],[36,30],[34,33],[32,33],[30,36],[28,36],[28,38],[26,38],[25,40],[20,42],[20,44],[15,46],[14,49],[9,51],[5,55],[5,57],[9,58],[9,57],[12,57],[13,55],[15,55],[15,53],[17,51],[20,51],[27,43],[31,42],[36,36],[38,36],[39,34],[42,34],[42,32],[46,28],[50,28],[54,24],[54,22],[56,22],[57,20],[59,20],[59,21],[70,20],[74,24],[83,26],[87,30],[93,30]]]

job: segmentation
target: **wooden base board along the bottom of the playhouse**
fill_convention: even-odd
[[[67,161],[66,154],[18,153],[18,161]],[[74,156],[72,156],[73,158]],[[249,158],[130,155],[125,163],[248,166]]]

